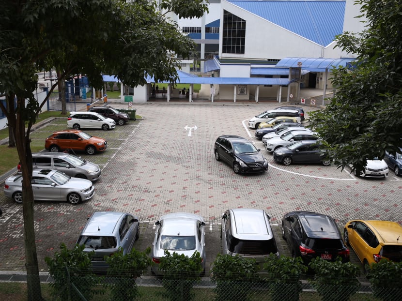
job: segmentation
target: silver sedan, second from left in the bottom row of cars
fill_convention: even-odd
[[[202,258],[203,271],[205,271],[205,223],[200,215],[186,212],[170,213],[162,215],[155,222],[155,226],[151,254],[154,263],[151,271],[154,274],[162,274],[158,267],[160,258],[165,256],[165,250],[188,257],[198,251]]]

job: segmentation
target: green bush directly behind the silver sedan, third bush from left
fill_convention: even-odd
[[[165,250],[165,256],[159,263],[159,270],[163,271],[162,285],[166,290],[163,297],[171,301],[193,300],[193,285],[200,282],[203,271],[201,263],[202,258],[197,251],[188,257]]]

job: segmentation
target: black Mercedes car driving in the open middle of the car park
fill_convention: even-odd
[[[246,138],[222,135],[215,141],[215,159],[225,161],[238,173],[259,173],[268,169],[268,162],[260,149]]]

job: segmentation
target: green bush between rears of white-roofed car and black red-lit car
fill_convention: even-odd
[[[302,291],[300,275],[307,271],[300,257],[278,258],[270,254],[265,258],[263,270],[267,272],[264,280],[270,284],[272,300],[299,300]]]

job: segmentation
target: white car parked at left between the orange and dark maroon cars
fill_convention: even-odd
[[[107,131],[116,127],[116,121],[96,112],[70,112],[70,116],[67,118],[67,126],[75,130],[82,128]]]

